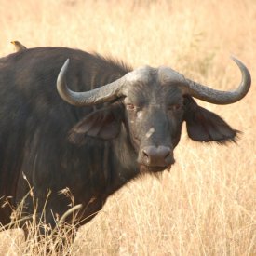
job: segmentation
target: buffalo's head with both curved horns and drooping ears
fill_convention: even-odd
[[[236,61],[242,81],[234,91],[219,91],[185,78],[168,67],[141,67],[100,88],[74,92],[67,87],[66,61],[58,76],[61,98],[75,106],[106,101],[107,107],[87,115],[71,131],[71,140],[88,136],[109,140],[118,136],[122,124],[141,168],[161,171],[174,163],[173,150],[180,141],[182,122],[195,141],[234,141],[237,131],[222,118],[198,106],[193,97],[215,104],[242,99],[250,87],[246,66]]]

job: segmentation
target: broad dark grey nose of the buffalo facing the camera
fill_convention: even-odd
[[[174,162],[172,151],[166,146],[147,146],[142,149],[143,162],[147,166],[167,167]]]

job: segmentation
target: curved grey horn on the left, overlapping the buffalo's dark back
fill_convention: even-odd
[[[126,82],[125,76],[101,88],[95,88],[85,92],[72,91],[67,87],[65,79],[68,65],[69,59],[65,61],[57,78],[57,89],[64,101],[75,106],[88,106],[103,103],[105,101],[112,101],[123,95],[122,88]]]

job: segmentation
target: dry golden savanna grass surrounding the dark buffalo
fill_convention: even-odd
[[[11,40],[81,48],[135,67],[168,65],[219,89],[240,82],[229,56],[244,61],[252,75],[245,99],[200,102],[243,131],[237,144],[199,144],[184,129],[171,171],[109,198],[62,255],[256,255],[255,0],[0,0],[0,25],[1,56],[14,51]],[[0,234],[0,255],[46,254],[43,242],[20,234]]]

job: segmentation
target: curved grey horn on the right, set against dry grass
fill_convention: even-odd
[[[185,79],[186,85],[182,85],[184,93],[190,94],[191,96],[202,100],[208,101],[214,104],[231,104],[236,101],[241,100],[249,91],[251,78],[248,68],[239,60],[234,57],[231,57],[233,61],[236,62],[236,65],[239,67],[242,74],[242,81],[236,90],[231,91],[222,91],[195,83],[192,80]]]

